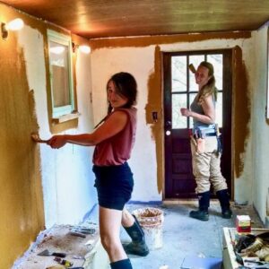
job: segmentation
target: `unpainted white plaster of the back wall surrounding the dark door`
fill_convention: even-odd
[[[187,51],[200,49],[234,48],[239,46],[243,50],[243,60],[247,65],[247,73],[255,69],[252,65],[253,39],[210,39],[205,41],[174,44],[158,44],[162,51]],[[157,164],[155,155],[155,141],[151,138],[151,126],[145,123],[145,106],[147,104],[149,75],[154,68],[154,46],[145,48],[100,48],[91,55],[93,115],[97,123],[106,115],[106,82],[111,74],[126,71],[134,74],[138,83],[138,126],[134,151],[129,161],[134,172],[133,201],[161,201],[162,194],[157,187]],[[251,90],[252,91],[252,90]],[[251,130],[250,130],[251,133]],[[250,134],[252,135],[252,134]],[[252,154],[251,140],[246,144],[244,171],[240,178],[235,178],[235,198],[252,201]],[[250,197],[250,198],[249,198]]]

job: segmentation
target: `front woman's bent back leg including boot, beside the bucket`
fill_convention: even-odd
[[[124,246],[126,253],[147,256],[150,251],[145,243],[144,232],[136,218],[126,209],[123,210],[121,224],[132,239],[130,244]]]

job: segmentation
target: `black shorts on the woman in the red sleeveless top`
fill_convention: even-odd
[[[133,173],[127,162],[115,166],[93,165],[92,170],[100,206],[123,210],[134,188]]]

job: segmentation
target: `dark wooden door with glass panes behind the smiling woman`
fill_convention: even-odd
[[[188,69],[202,61],[214,66],[218,100],[216,123],[221,129],[223,153],[221,172],[231,186],[231,50],[210,50],[163,54],[164,78],[164,147],[165,198],[195,197],[195,179],[189,134],[193,126],[191,117],[182,117],[180,108],[189,108],[198,87],[195,75]]]

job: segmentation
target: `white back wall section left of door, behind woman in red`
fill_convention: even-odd
[[[134,173],[132,200],[160,201],[156,180],[155,143],[150,126],[146,126],[148,77],[154,68],[154,48],[103,48],[91,55],[91,80],[94,122],[107,114],[106,85],[111,75],[128,72],[134,75],[138,86],[138,125],[134,150],[129,164]]]

